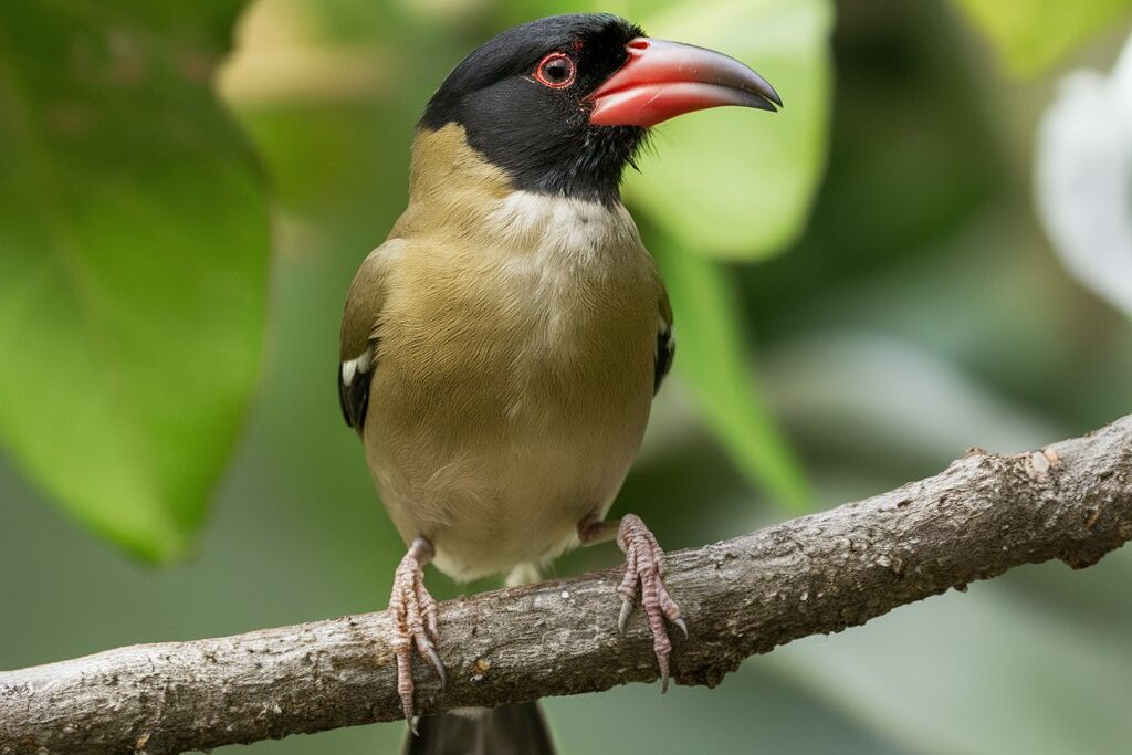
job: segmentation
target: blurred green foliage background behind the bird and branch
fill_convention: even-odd
[[[1130,410],[1129,2],[601,8],[737,54],[787,103],[661,127],[631,180],[680,353],[615,512],[693,547]],[[385,606],[403,547],[335,405],[344,292],[444,74],[576,9],[0,9],[0,668]],[[1127,752],[1130,580],[1127,550],[1020,568],[714,690],[546,707],[564,753]]]

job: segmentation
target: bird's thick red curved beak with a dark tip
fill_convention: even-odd
[[[774,112],[782,100],[735,58],[679,42],[638,36],[628,60],[590,96],[595,126],[649,128],[694,110],[739,105]]]

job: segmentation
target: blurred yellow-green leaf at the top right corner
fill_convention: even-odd
[[[958,0],[1014,76],[1053,66],[1132,10],[1132,0]]]

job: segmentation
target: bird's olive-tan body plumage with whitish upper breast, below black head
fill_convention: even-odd
[[[458,126],[420,131],[410,205],[351,286],[341,350],[372,348],[354,405],[406,542],[428,538],[460,580],[576,544],[636,455],[670,318],[619,203],[516,191]]]

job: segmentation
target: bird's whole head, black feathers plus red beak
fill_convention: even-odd
[[[648,129],[676,115],[782,101],[719,52],[653,40],[611,15],[542,18],[507,29],[461,62],[420,128],[463,129],[513,188],[615,201]]]

